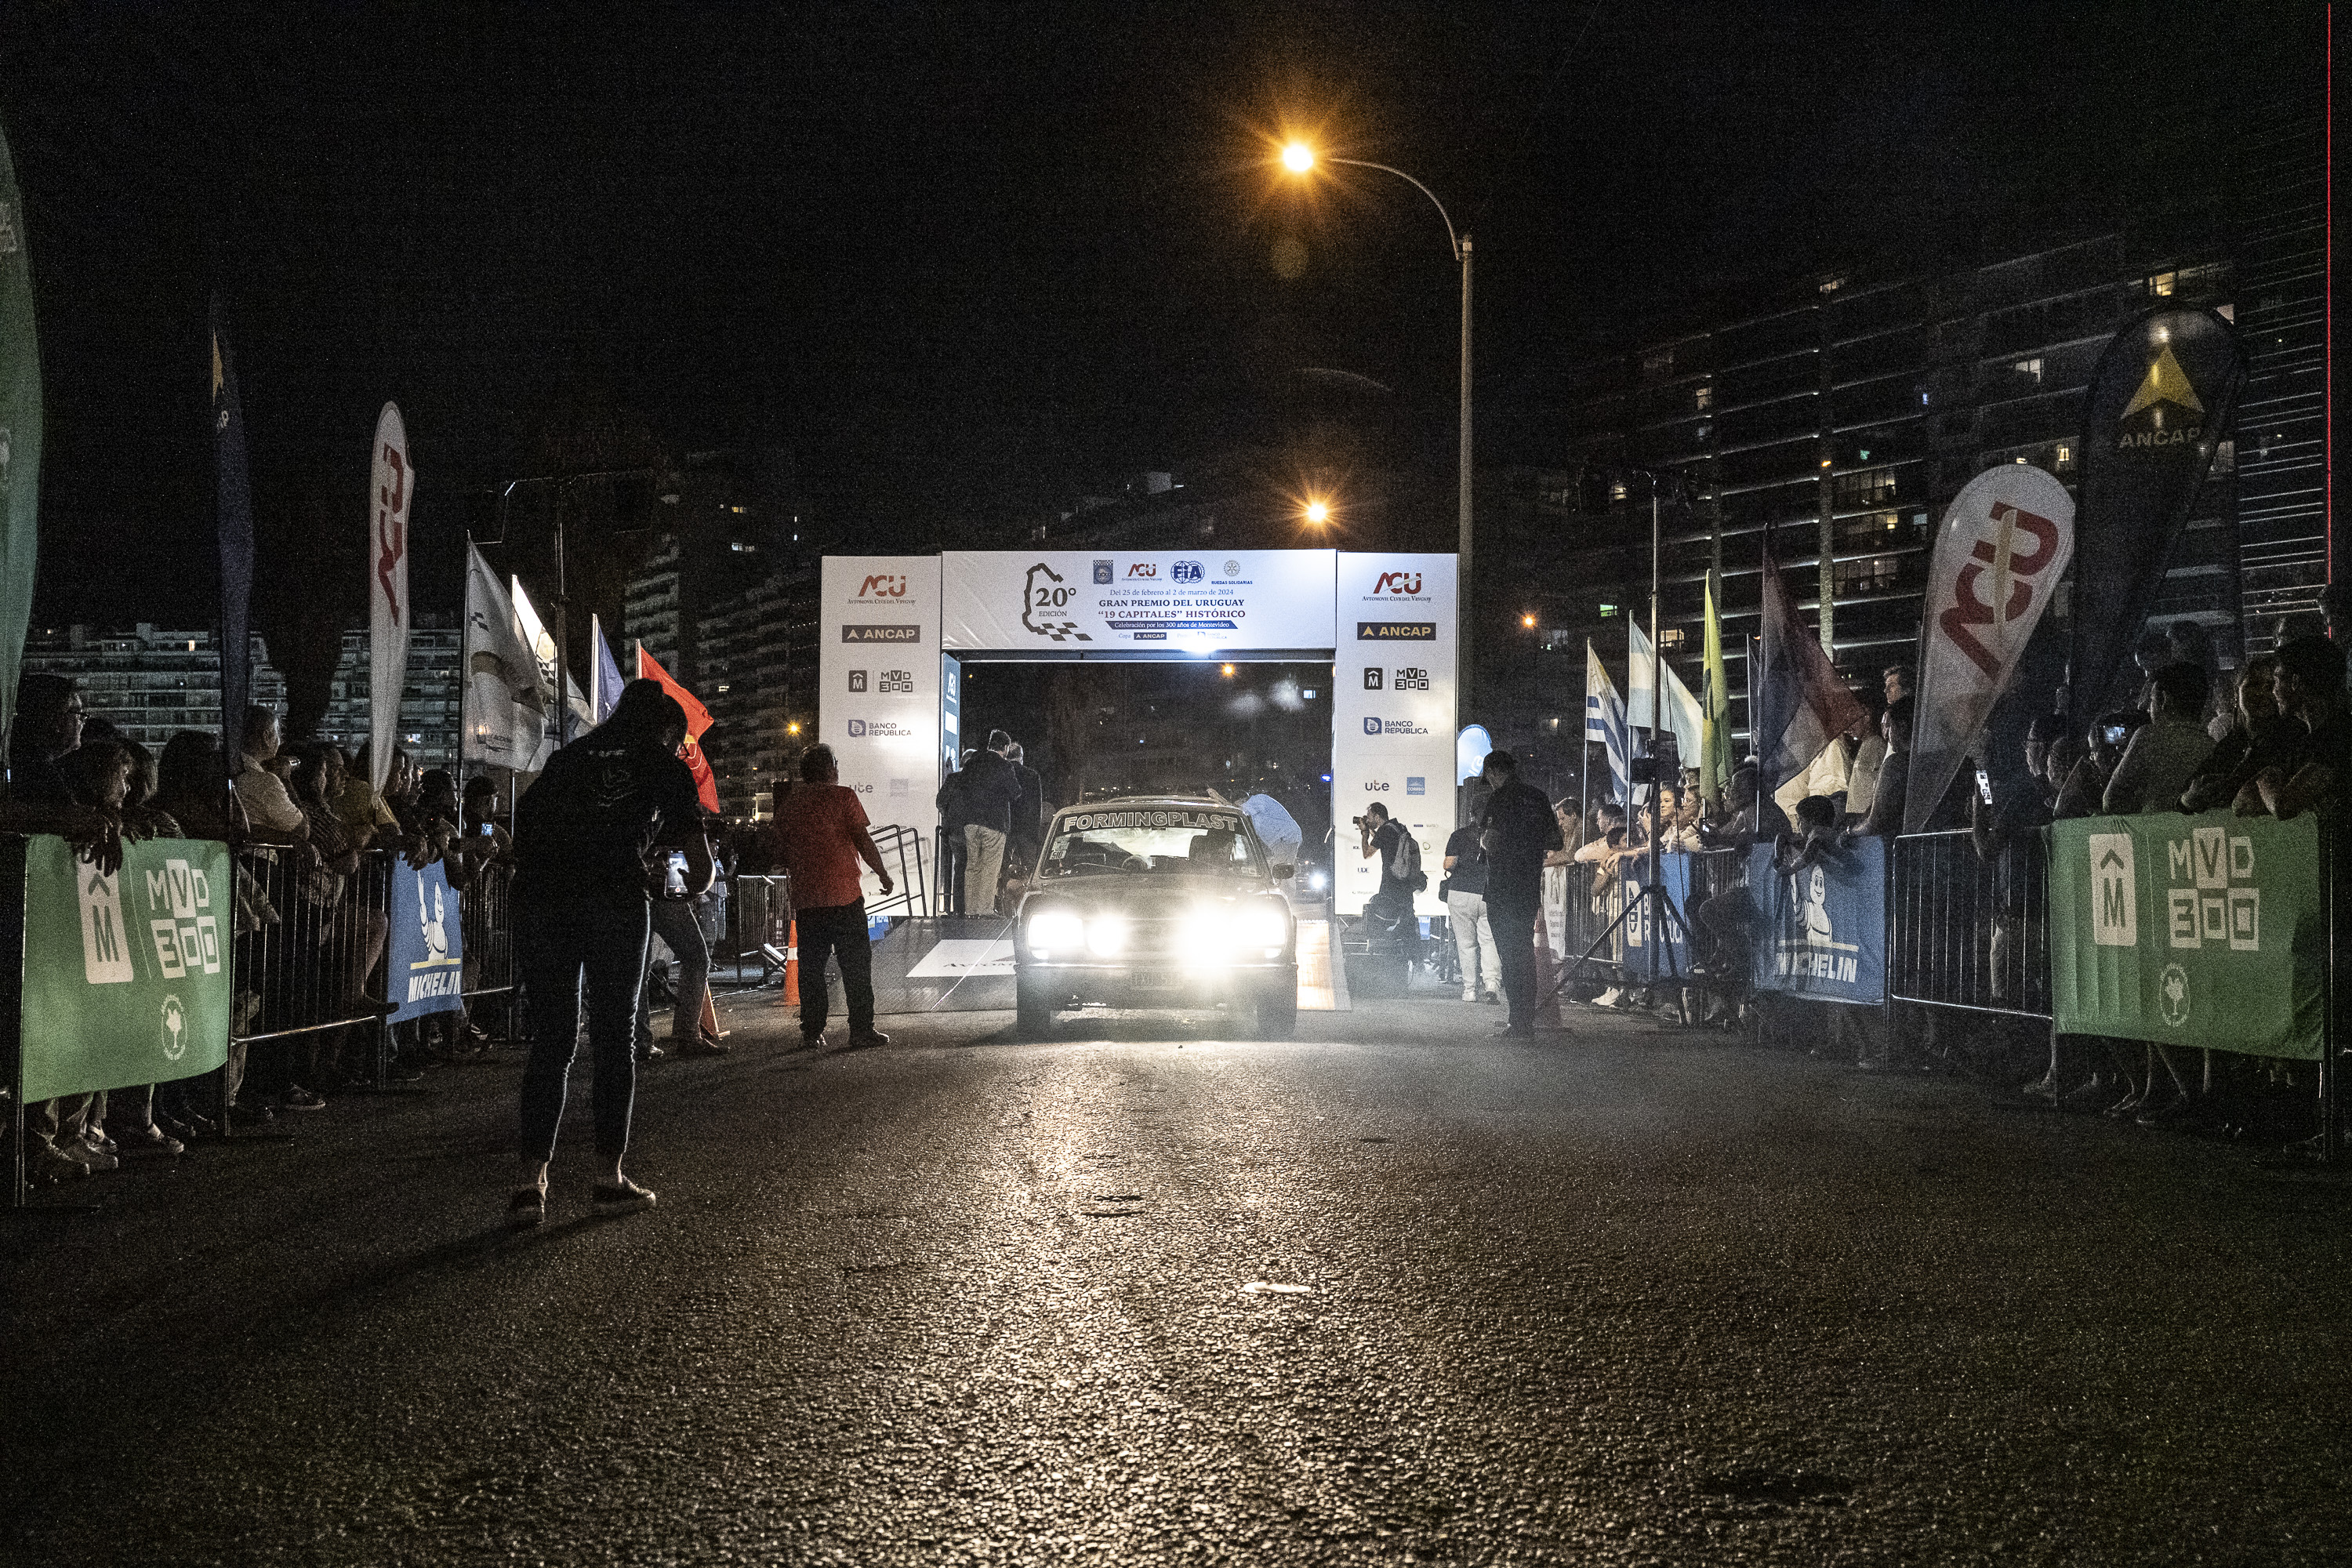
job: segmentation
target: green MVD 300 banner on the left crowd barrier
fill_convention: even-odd
[[[24,846],[24,1098],[165,1084],[228,1060],[238,884],[228,846],[146,839],[106,877]]]

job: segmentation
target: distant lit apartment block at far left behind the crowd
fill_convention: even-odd
[[[148,621],[129,632],[35,628],[24,642],[24,668],[73,677],[92,719],[108,719],[148,750],[162,750],[183,729],[221,731],[221,642],[212,630],[158,630]],[[285,677],[254,637],[252,701],[285,712]]]

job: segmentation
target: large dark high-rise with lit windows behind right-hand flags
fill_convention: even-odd
[[[1762,287],[1743,313],[1566,371],[1559,461],[1486,484],[1501,510],[1484,623],[1524,630],[1482,656],[1477,717],[1505,743],[1573,748],[1585,639],[1625,679],[1625,625],[1649,616],[1651,475],[1658,642],[1693,691],[1715,574],[1745,733],[1766,536],[1839,668],[1875,686],[1912,658],[1943,505],[1994,463],[2077,489],[2091,371],[2117,327],[2169,301],[2234,320],[2251,376],[2150,614],[2201,621],[2230,663],[2267,646],[2281,614],[2312,609],[2326,536],[2319,125],[2281,127],[2249,136],[2253,174],[2194,221],[1938,277],[1853,268]]]

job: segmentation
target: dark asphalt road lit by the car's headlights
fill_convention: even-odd
[[[2352,1559],[2347,1185],[1578,1013],[513,1060],[0,1229],[12,1563]]]

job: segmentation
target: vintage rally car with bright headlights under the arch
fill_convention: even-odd
[[[1298,922],[1240,806],[1136,797],[1054,813],[1014,924],[1018,1027],[1073,1006],[1223,1006],[1258,1039],[1298,1023]]]

